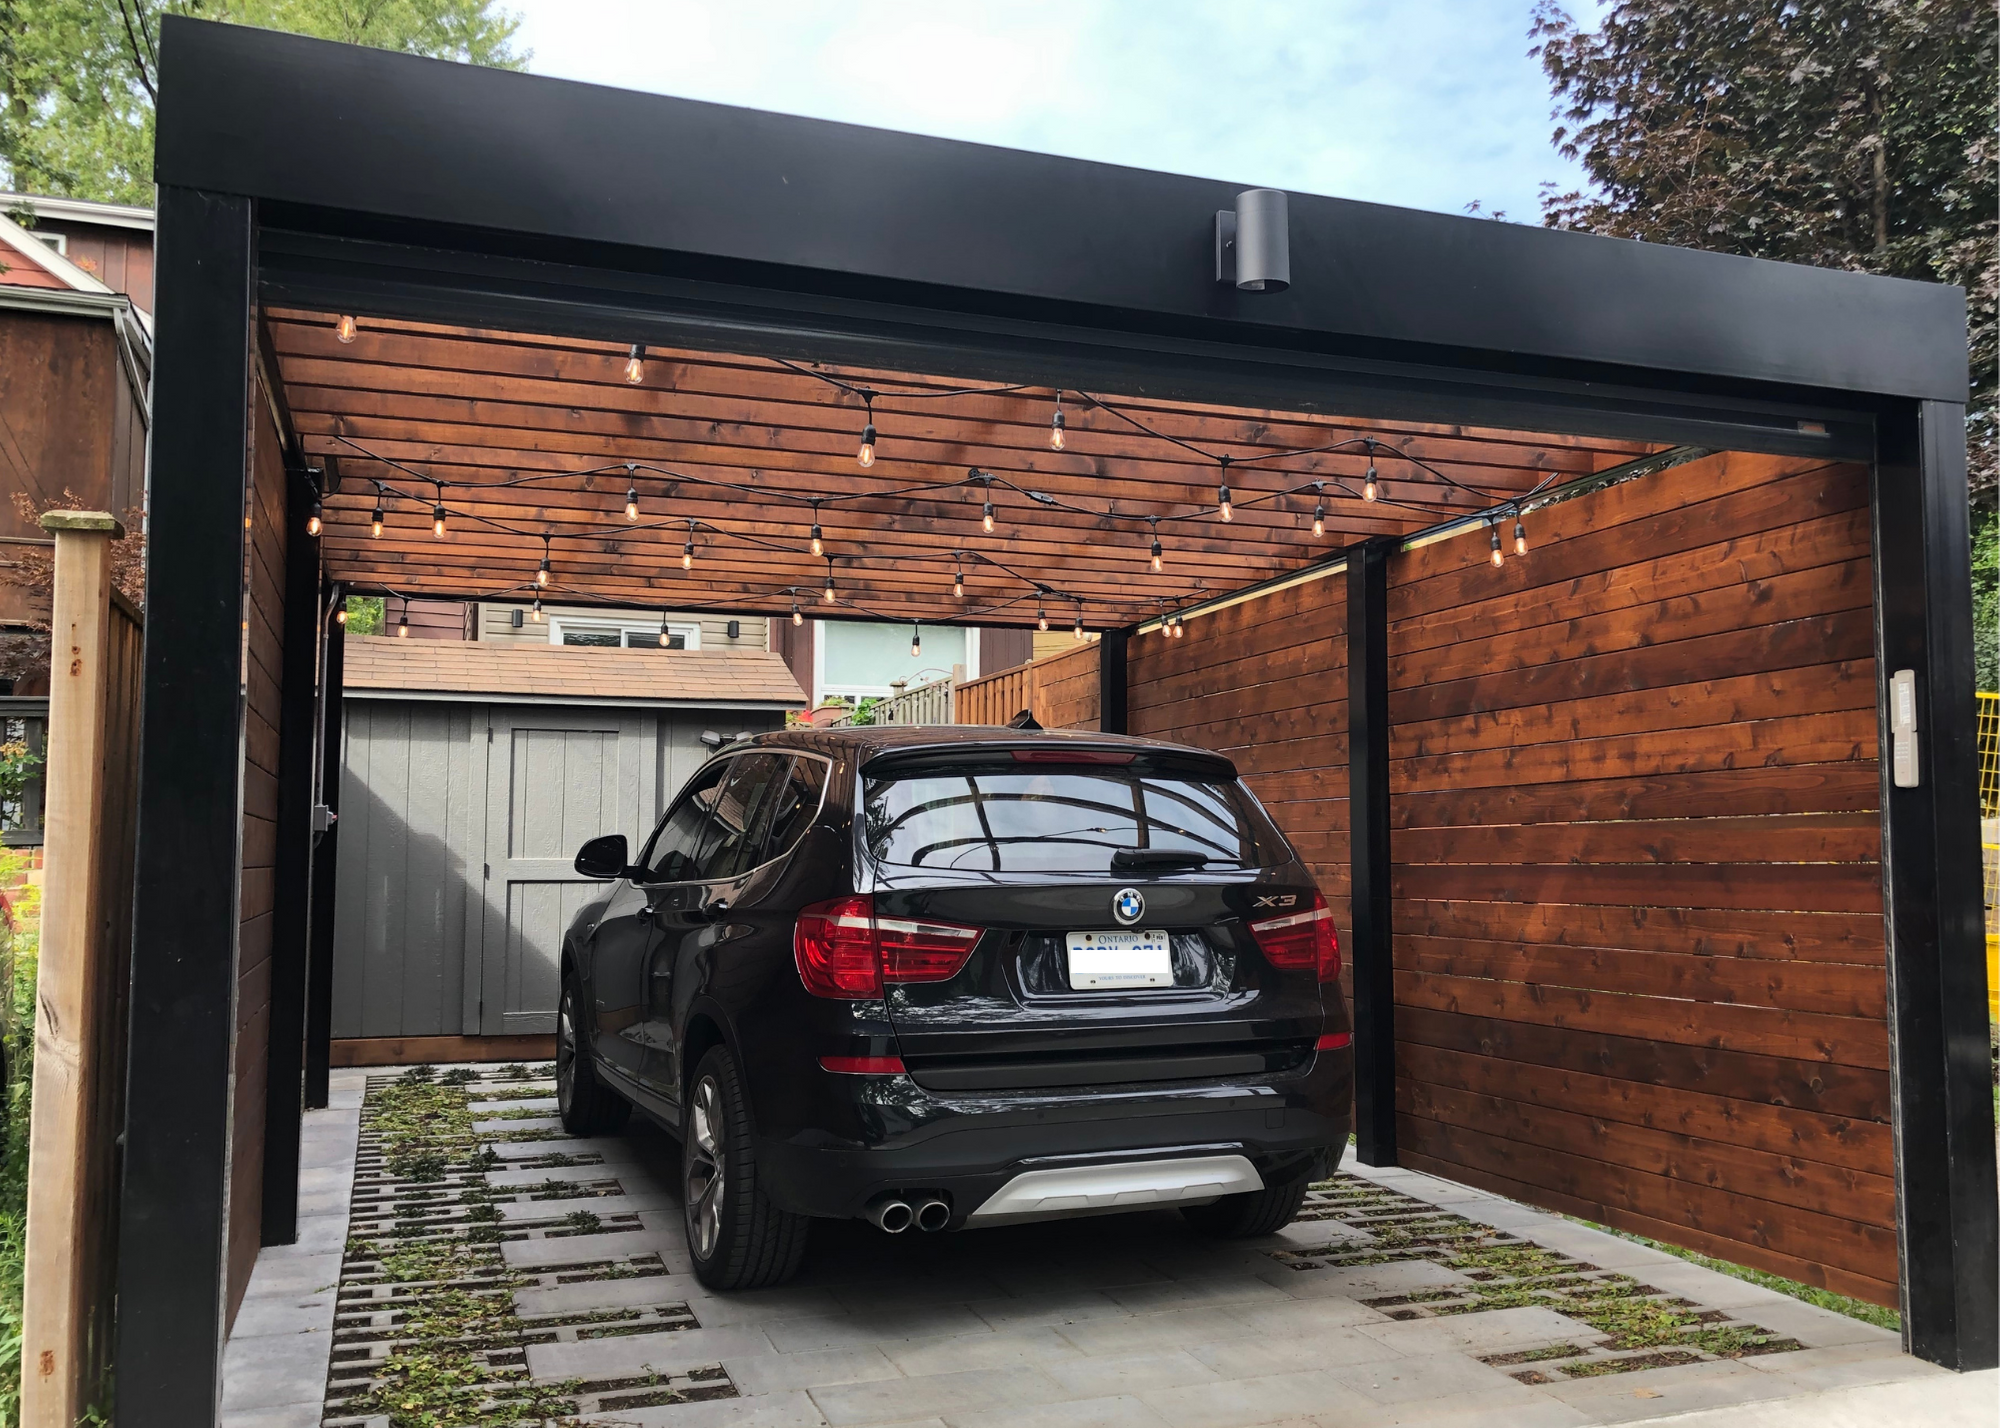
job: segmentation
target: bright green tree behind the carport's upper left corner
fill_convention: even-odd
[[[0,0],[0,182],[152,204],[160,18],[190,14],[518,70],[494,0]]]

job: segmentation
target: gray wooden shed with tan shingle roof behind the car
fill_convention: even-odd
[[[334,1038],[554,1032],[562,930],[600,886],[576,846],[636,846],[718,736],[804,702],[762,650],[350,638]]]

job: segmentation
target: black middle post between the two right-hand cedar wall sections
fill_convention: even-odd
[[[1396,984],[1388,862],[1388,558],[1348,550],[1348,870],[1354,926],[1354,1148],[1396,1164]]]

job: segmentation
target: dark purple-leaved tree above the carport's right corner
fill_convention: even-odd
[[[1590,178],[1544,224],[1966,288],[1994,490],[1992,0],[1614,0],[1596,30],[1540,0],[1532,36]]]

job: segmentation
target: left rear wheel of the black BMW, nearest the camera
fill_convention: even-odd
[[[758,1184],[750,1098],[736,1058],[712,1048],[688,1084],[680,1136],[682,1220],[694,1278],[712,1290],[760,1290],[798,1274],[812,1220]]]

